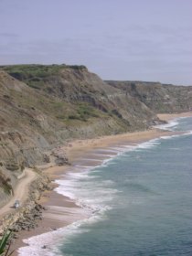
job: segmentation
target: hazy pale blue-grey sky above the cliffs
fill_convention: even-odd
[[[192,85],[192,0],[0,0],[0,65]]]

